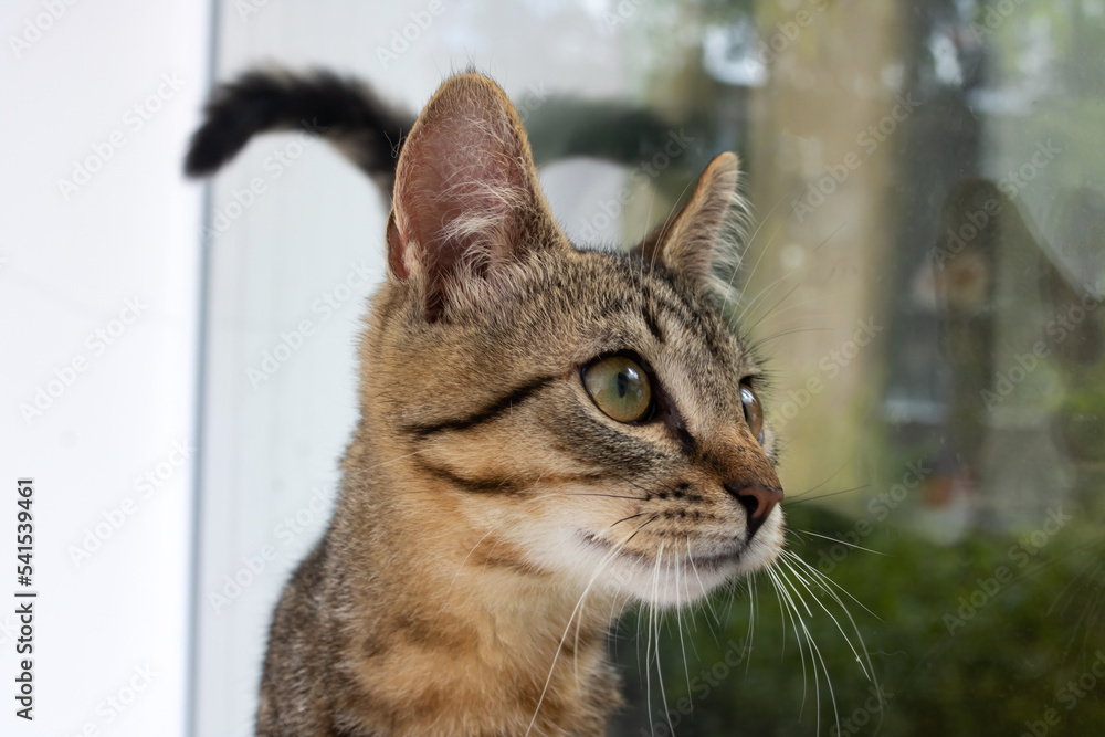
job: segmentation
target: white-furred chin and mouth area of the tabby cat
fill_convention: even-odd
[[[767,527],[767,525],[765,526]],[[680,607],[697,601],[726,581],[771,566],[782,548],[782,525],[761,529],[750,541],[695,550],[657,547],[654,554],[613,551],[611,545],[580,530],[577,538],[600,557],[601,578],[619,596],[660,607]]]

